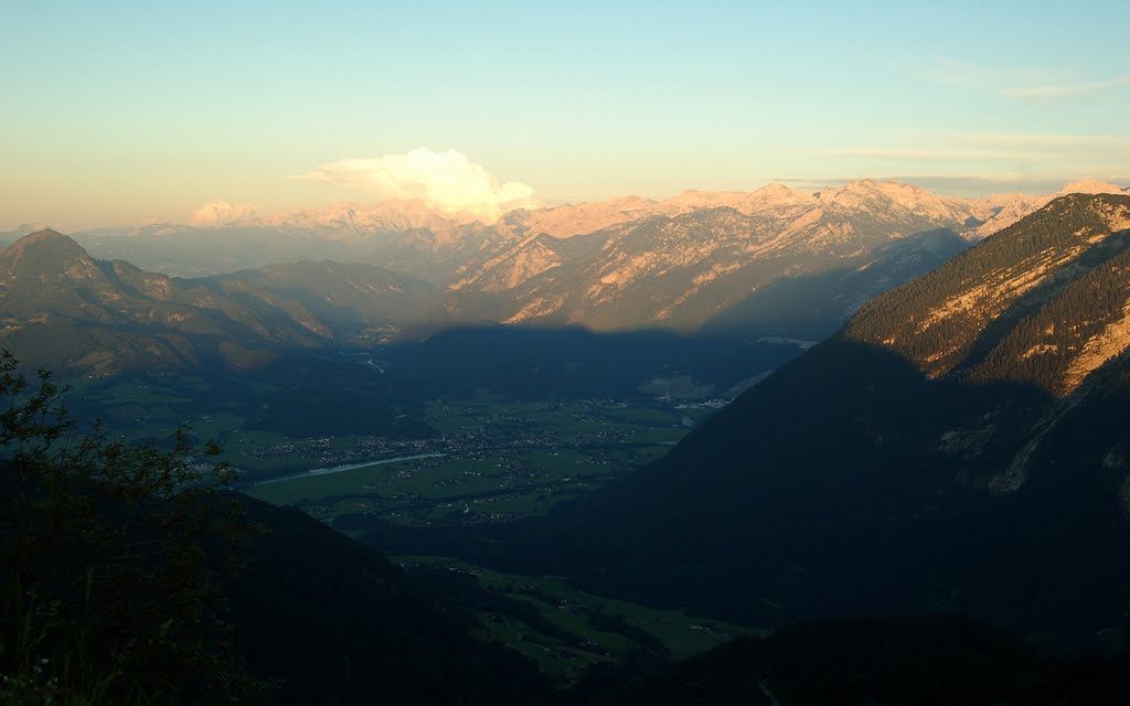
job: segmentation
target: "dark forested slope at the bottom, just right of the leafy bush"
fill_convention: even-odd
[[[294,508],[243,498],[262,531],[236,577],[231,621],[276,704],[539,704],[554,691],[478,618],[372,548]]]

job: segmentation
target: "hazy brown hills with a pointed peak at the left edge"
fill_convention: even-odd
[[[183,280],[93,259],[41,230],[0,251],[0,343],[60,374],[166,365],[261,366],[280,350],[344,345],[434,304],[373,265],[296,263]]]

